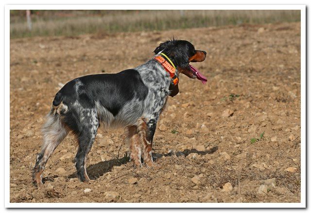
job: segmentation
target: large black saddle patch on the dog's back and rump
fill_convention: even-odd
[[[75,86],[79,83],[81,85],[76,91]],[[94,108],[95,102],[99,102],[116,116],[128,101],[134,98],[142,101],[147,94],[148,88],[138,71],[129,69],[117,74],[89,75],[69,81],[56,94],[53,104],[60,103],[62,99],[69,108],[70,104],[75,101],[78,101],[84,108]]]

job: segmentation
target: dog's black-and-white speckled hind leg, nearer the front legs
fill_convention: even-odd
[[[79,133],[75,133],[78,139],[79,147],[75,157],[75,167],[80,181],[88,182],[90,179],[86,173],[86,158],[94,143],[99,121],[95,109],[90,109],[84,115],[84,121],[80,122]]]

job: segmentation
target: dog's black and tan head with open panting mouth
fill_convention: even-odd
[[[189,63],[204,61],[207,54],[205,51],[196,50],[188,41],[175,39],[161,43],[154,52],[158,54],[161,51],[173,61],[179,73],[200,79],[198,70]]]

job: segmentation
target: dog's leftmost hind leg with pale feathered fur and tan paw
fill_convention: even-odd
[[[68,135],[68,129],[61,122],[59,114],[53,114],[51,111],[47,116],[47,122],[42,128],[43,145],[41,152],[37,155],[35,167],[33,170],[33,182],[39,186],[42,183],[43,169],[56,147]]]

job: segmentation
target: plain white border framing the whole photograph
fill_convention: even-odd
[[[306,207],[306,5],[165,5],[166,10],[301,11],[301,203],[10,203],[10,10],[163,10],[163,5],[5,5],[4,138],[5,208],[305,208]]]

